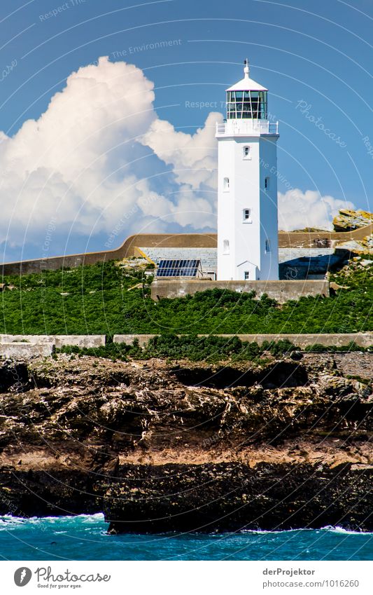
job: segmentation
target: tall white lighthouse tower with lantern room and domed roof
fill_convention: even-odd
[[[249,78],[227,89],[218,139],[218,280],[279,279],[278,123],[267,119],[267,89]]]

